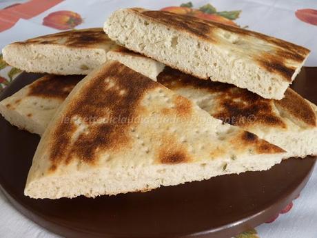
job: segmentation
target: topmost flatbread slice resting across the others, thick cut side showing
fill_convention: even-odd
[[[309,50],[249,30],[172,12],[127,8],[104,25],[125,48],[201,79],[282,99]]]

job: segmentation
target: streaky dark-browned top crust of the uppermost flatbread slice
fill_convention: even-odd
[[[292,82],[292,75],[294,75],[296,68],[290,66],[286,61],[292,60],[292,65],[300,66],[310,52],[307,48],[297,46],[294,43],[214,21],[207,21],[205,19],[198,19],[196,17],[172,12],[150,11],[143,8],[131,8],[130,10],[141,15],[141,17],[145,17],[149,21],[164,24],[168,28],[188,32],[194,37],[204,39],[214,44],[221,44],[223,41],[217,34],[219,30],[231,32],[241,38],[248,38],[250,41],[265,43],[265,45],[272,48],[272,50],[267,52],[263,50],[260,53],[256,52],[256,54],[252,53],[252,59],[258,62],[258,66],[280,75],[281,79],[287,82]]]

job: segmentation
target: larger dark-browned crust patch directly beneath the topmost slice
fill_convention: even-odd
[[[199,80],[169,67],[165,67],[157,81],[172,90],[189,87],[214,94],[216,103],[212,116],[234,126],[287,127],[279,115],[276,115],[274,101],[263,99],[248,90],[227,83]]]

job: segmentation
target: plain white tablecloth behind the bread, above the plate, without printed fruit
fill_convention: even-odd
[[[27,21],[19,21],[17,26],[6,30],[12,37],[2,38],[0,48],[12,41],[17,41],[14,35],[19,34],[18,39],[28,39],[37,37],[41,34],[48,34],[56,31],[52,28],[42,26],[43,17],[50,12],[57,10],[72,10],[79,12],[84,22],[78,28],[102,27],[105,19],[111,12],[119,8],[143,7],[159,10],[166,6],[179,6],[188,0],[66,0],[57,6],[39,14],[28,22],[35,23],[37,27],[30,27]],[[317,9],[317,0],[213,0],[213,1],[192,1],[194,6],[203,6],[212,3],[217,10],[242,10],[240,18],[236,20],[240,26],[249,26],[249,30],[255,30],[265,34],[285,39],[301,46],[311,49],[311,55],[307,59],[305,66],[317,66],[317,26],[305,23],[295,17],[294,12],[303,8]],[[45,29],[46,28],[46,29]],[[21,32],[22,30],[22,32]],[[28,32],[25,34],[25,32]]]

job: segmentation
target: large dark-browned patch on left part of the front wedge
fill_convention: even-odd
[[[74,157],[94,164],[100,151],[117,151],[128,146],[131,143],[128,128],[136,123],[143,95],[158,87],[161,87],[158,83],[119,62],[108,63],[99,75],[87,81],[52,133],[50,160],[55,166],[52,169]],[[78,130],[76,118],[89,132],[81,133],[73,142]],[[99,120],[105,121],[98,123]]]

